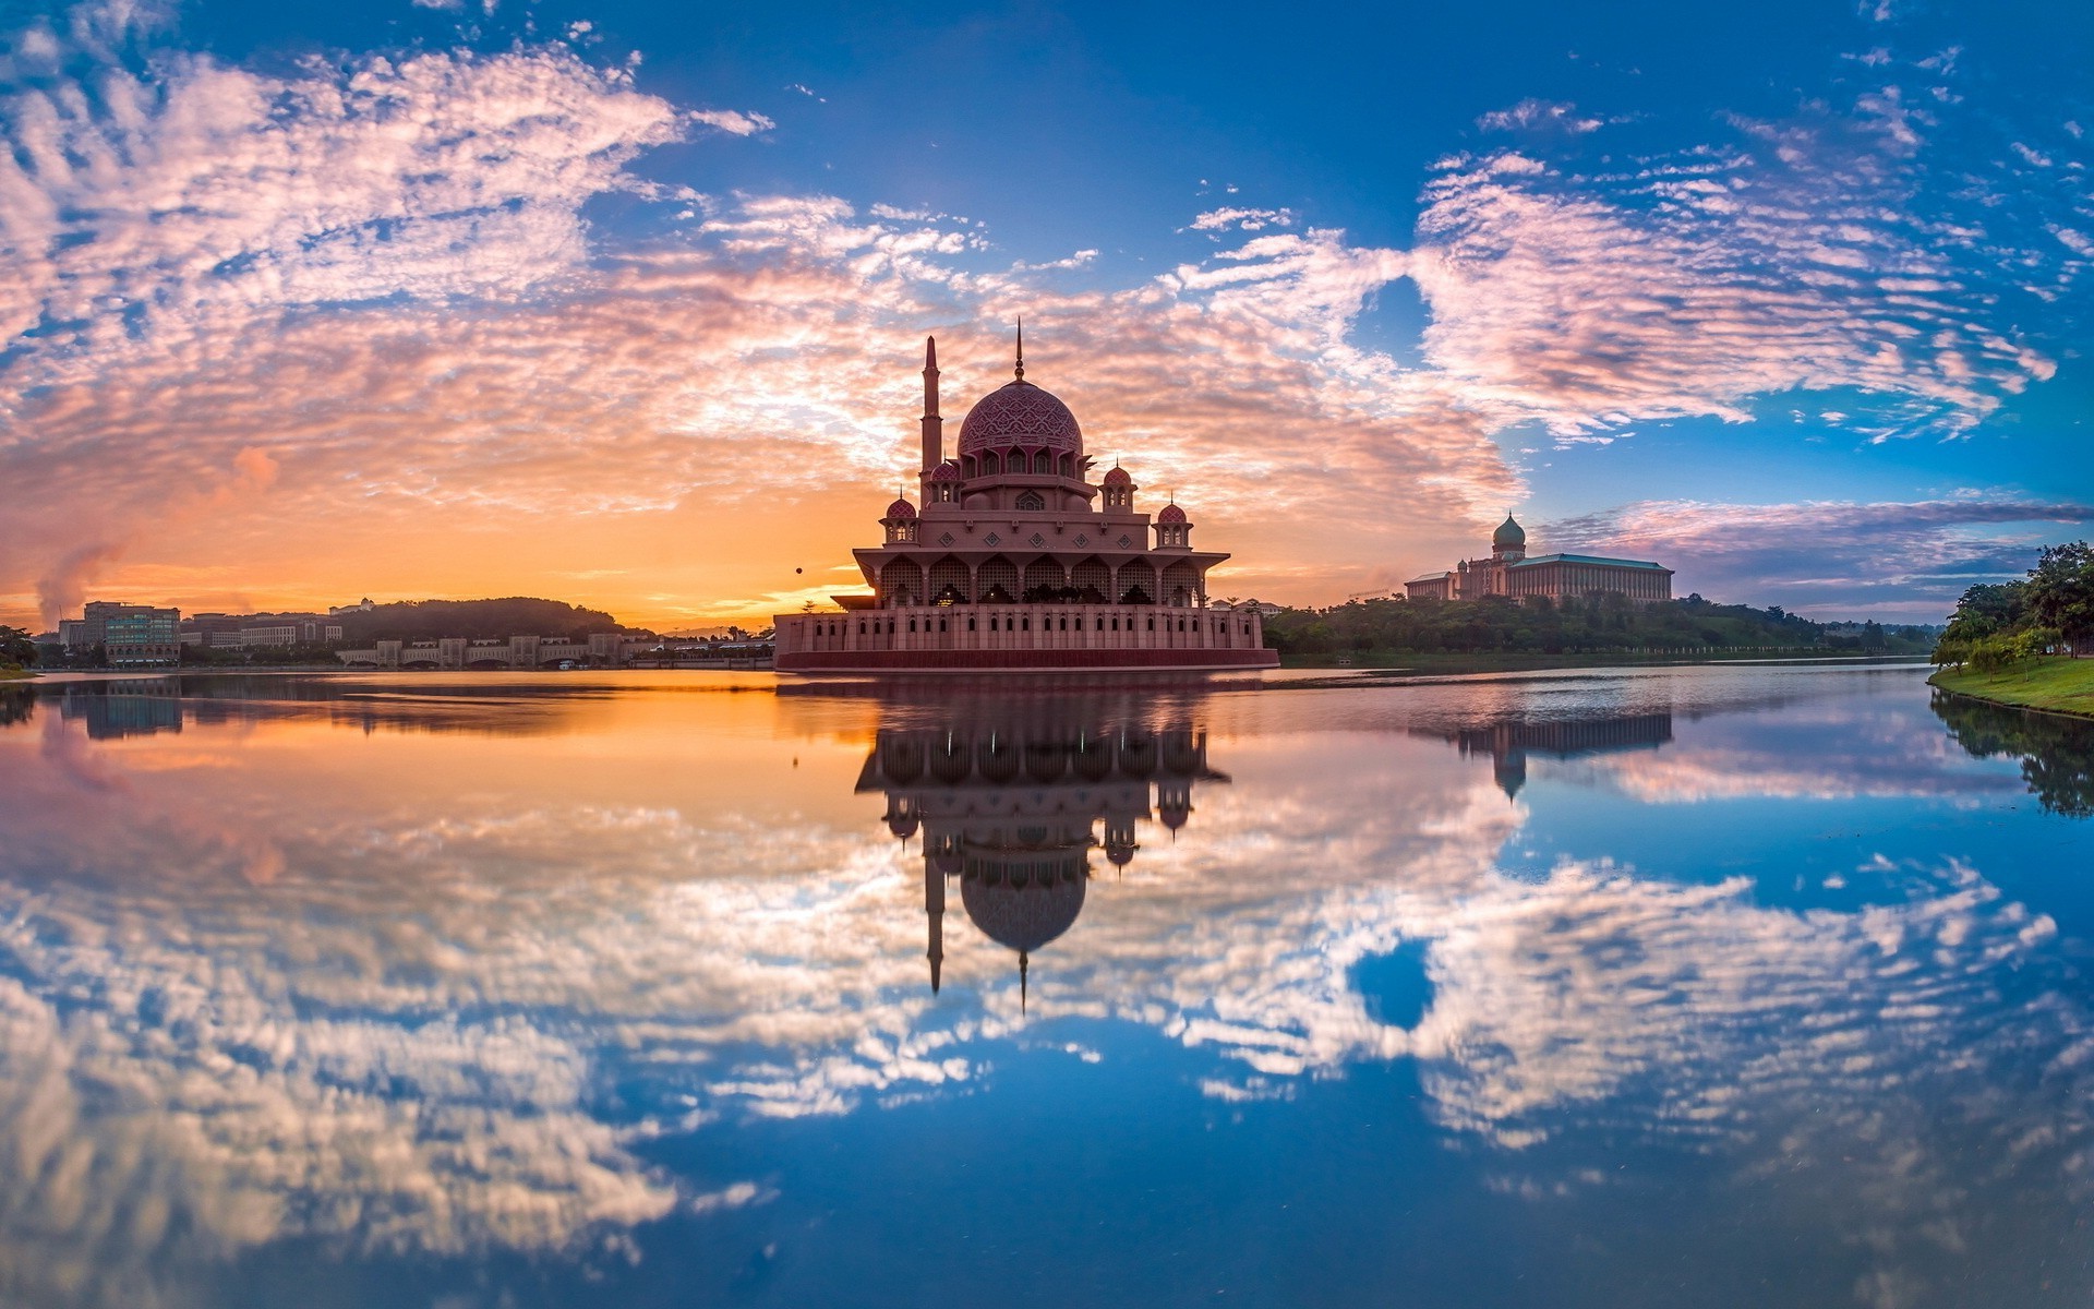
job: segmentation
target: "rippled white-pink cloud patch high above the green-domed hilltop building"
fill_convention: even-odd
[[[1426,358],[1558,436],[1830,387],[1887,398],[1889,431],[1966,434],[2054,364],[1993,323],[1975,232],[1912,214],[1914,142],[1883,96],[1608,174],[1453,159],[1411,256]]]

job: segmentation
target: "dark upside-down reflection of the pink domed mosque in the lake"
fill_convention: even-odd
[[[1018,951],[1022,999],[1032,953],[1083,911],[1091,848],[1127,867],[1139,823],[1185,825],[1196,781],[1229,777],[1206,767],[1206,733],[1189,727],[955,725],[882,731],[859,792],[886,792],[888,831],[923,838],[930,989],[942,980],[944,898],[959,878],[967,919]]]

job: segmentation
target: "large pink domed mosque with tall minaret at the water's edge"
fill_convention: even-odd
[[[1252,607],[1208,603],[1223,551],[1191,547],[1177,503],[1152,519],[1133,475],[1095,482],[1083,427],[1016,377],[984,396],[944,454],[938,341],[923,350],[919,505],[898,498],[886,540],[852,551],[871,595],[838,614],[779,614],[781,672],[1055,672],[1273,668]]]

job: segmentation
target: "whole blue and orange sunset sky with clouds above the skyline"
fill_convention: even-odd
[[[2088,536],[2094,10],[0,0],[0,622],[861,589],[1007,379],[1215,595]]]

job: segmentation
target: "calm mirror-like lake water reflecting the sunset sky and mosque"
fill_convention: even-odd
[[[0,1303],[2094,1299],[2094,729],[1916,668],[0,723]]]

